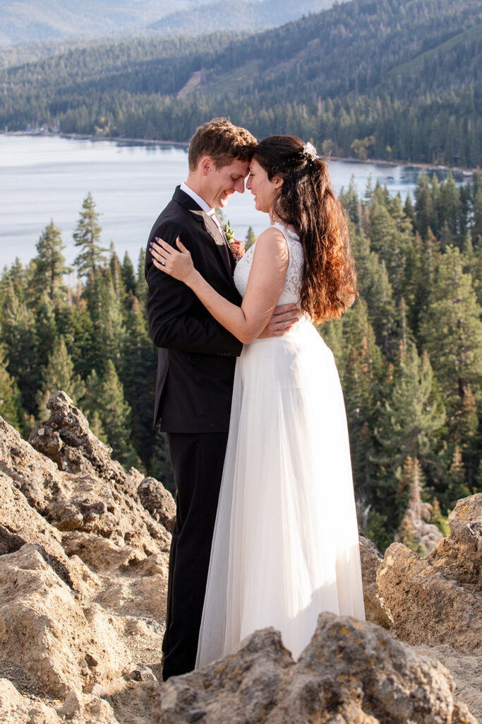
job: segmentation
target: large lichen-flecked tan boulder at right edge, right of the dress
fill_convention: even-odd
[[[449,523],[426,559],[392,543],[376,573],[379,595],[403,641],[481,654],[482,494],[460,500]]]

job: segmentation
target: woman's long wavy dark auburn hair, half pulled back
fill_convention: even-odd
[[[254,159],[270,180],[283,178],[271,211],[295,228],[304,248],[301,309],[317,322],[342,316],[356,298],[356,271],[348,225],[330,186],[327,164],[291,135],[264,138]]]

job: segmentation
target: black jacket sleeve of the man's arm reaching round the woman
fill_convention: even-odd
[[[173,246],[179,235],[191,252],[194,266],[197,262],[197,246],[192,243],[189,231],[180,224],[163,222],[151,234],[160,236]],[[156,347],[178,350],[184,353],[238,356],[242,343],[222,327],[212,316],[197,319],[193,315],[197,297],[189,287],[173,279],[152,264],[149,246],[146,253],[145,275],[147,279],[147,316],[149,333]]]

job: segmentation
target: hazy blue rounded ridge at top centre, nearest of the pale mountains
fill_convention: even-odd
[[[262,30],[274,28],[304,14],[331,7],[333,0],[222,0],[206,7],[176,10],[150,28],[163,35],[189,35],[195,32],[212,33],[214,30]]]

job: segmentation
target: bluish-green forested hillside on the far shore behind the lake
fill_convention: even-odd
[[[0,127],[188,140],[224,115],[322,153],[475,168],[482,6],[352,0],[261,33],[72,47],[0,70]]]

